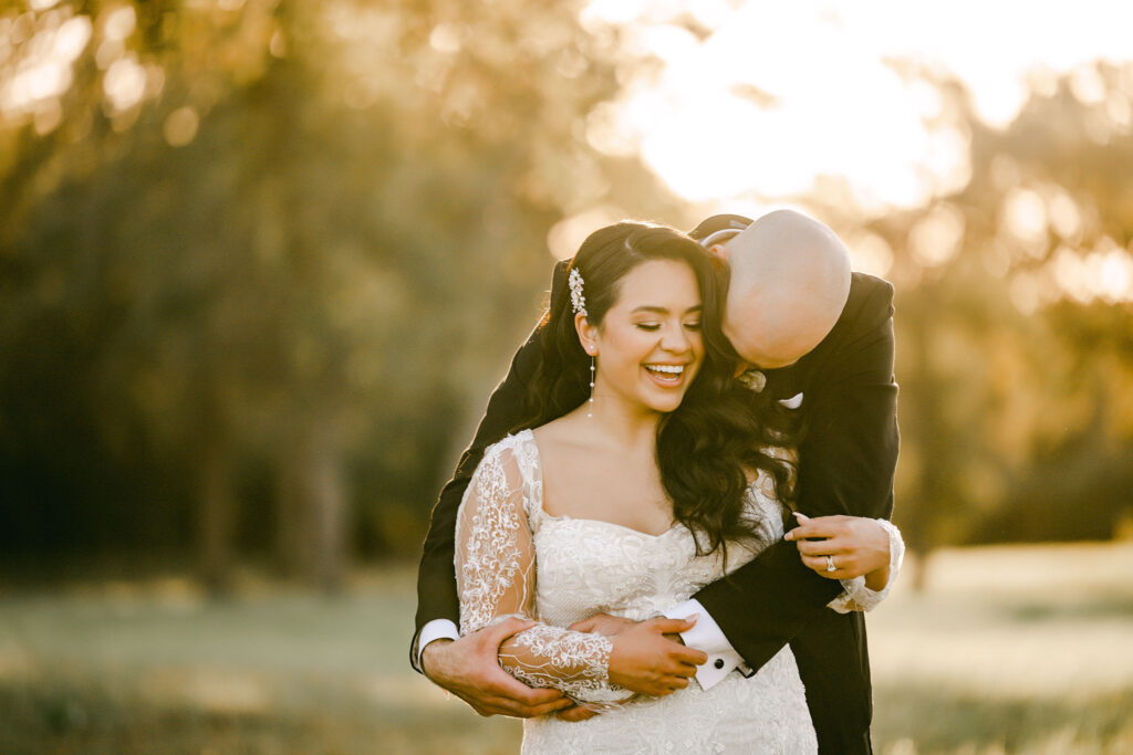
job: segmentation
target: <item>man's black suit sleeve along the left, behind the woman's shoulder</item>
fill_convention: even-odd
[[[565,265],[555,268],[551,295],[560,295],[565,283]],[[451,480],[441,490],[429,518],[428,534],[421,549],[420,566],[417,570],[417,616],[414,645],[421,627],[433,619],[460,620],[460,602],[457,598],[453,551],[457,526],[457,509],[468,488],[484,449],[502,439],[510,429],[523,419],[523,395],[527,383],[535,375],[539,363],[540,335],[536,328],[512,359],[508,376],[488,398],[487,410],[476,429],[471,444],[460,456]],[[412,658],[412,651],[410,651]]]

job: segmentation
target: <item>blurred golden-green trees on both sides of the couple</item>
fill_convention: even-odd
[[[343,552],[410,555],[537,317],[548,229],[696,220],[582,136],[627,62],[573,3],[33,5],[0,11],[7,552],[198,548],[218,586],[241,551],[329,584]],[[1131,74],[995,130],[902,70],[968,183],[875,220],[815,199],[893,252],[897,521],[918,549],[1109,537],[1133,311],[1071,273],[1128,255]]]

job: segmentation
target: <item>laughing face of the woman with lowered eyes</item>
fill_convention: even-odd
[[[654,259],[630,271],[619,294],[602,326],[582,333],[597,355],[595,403],[671,412],[704,361],[697,278],[684,263]]]

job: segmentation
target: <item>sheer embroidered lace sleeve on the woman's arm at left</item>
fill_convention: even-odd
[[[535,619],[535,547],[514,455],[493,446],[476,467],[457,513],[460,634],[509,616]],[[602,635],[540,624],[500,646],[500,664],[533,687],[579,702],[613,703],[632,693],[610,684],[613,643]]]

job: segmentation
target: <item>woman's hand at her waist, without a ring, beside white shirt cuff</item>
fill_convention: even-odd
[[[695,624],[695,618],[656,618],[625,629],[613,638],[610,680],[654,697],[684,689],[708,655],[665,635],[688,632]]]

